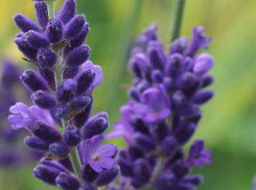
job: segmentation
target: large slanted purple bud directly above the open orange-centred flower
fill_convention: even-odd
[[[108,114],[105,111],[101,111],[92,118],[90,118],[84,126],[82,126],[82,138],[90,139],[96,134],[103,134],[108,128]]]

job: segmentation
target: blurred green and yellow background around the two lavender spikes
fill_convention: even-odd
[[[57,1],[60,9],[63,1]],[[128,100],[121,84],[131,84],[129,50],[151,22],[158,24],[166,50],[169,46],[173,0],[77,0],[77,13],[90,23],[86,43],[93,49],[92,61],[102,66],[103,84],[94,91],[94,113],[108,111],[110,130],[119,119],[119,107]],[[14,36],[19,31],[12,16],[18,12],[36,19],[30,0],[0,1],[0,57],[10,58],[24,68]],[[205,26],[213,36],[209,54],[214,56],[212,88],[216,95],[203,106],[204,117],[195,138],[203,138],[213,152],[214,163],[194,169],[204,175],[199,190],[252,189],[256,173],[256,1],[189,0],[186,2],[182,36],[191,27]],[[122,140],[113,141],[125,146]],[[22,143],[22,142],[21,142]],[[32,174],[36,163],[19,168],[0,169],[0,189],[43,190],[46,186]]]

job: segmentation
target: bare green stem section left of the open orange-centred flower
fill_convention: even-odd
[[[75,170],[75,175],[77,176],[79,181],[83,183],[83,180],[81,177],[82,164],[81,164],[80,157],[78,155],[76,147],[72,147],[72,149],[70,149],[70,161],[72,163],[73,169]]]

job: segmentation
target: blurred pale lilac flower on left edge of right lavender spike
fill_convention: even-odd
[[[122,136],[129,146],[135,146],[133,140],[134,130],[130,124],[131,117],[135,114],[134,105],[133,101],[128,101],[127,104],[120,108],[121,119],[115,122],[114,131],[105,135],[107,139],[115,139]]]

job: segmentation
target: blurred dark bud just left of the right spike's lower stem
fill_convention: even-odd
[[[141,184],[146,184],[151,179],[152,171],[146,159],[137,159],[134,162],[133,172],[136,180],[138,180]]]

